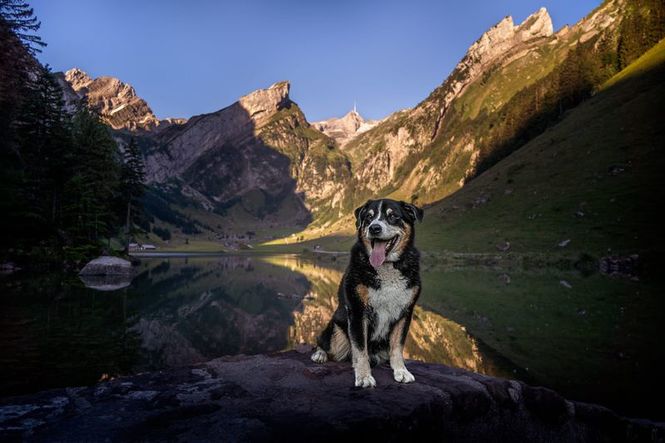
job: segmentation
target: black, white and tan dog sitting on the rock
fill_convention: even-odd
[[[355,216],[358,239],[337,291],[339,304],[311,358],[324,363],[351,357],[358,387],[376,386],[371,367],[386,361],[395,381],[411,383],[403,349],[421,290],[414,226],[423,210],[403,201],[369,200]]]

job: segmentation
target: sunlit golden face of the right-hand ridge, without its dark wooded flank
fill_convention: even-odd
[[[610,2],[612,3],[612,2]],[[585,38],[612,22],[606,6],[578,25]],[[483,141],[479,127],[521,89],[551,73],[580,31],[553,33],[544,8],[516,26],[506,17],[467,51],[446,81],[410,110],[393,114],[347,146],[356,168],[355,203],[391,194],[429,203],[473,176]]]

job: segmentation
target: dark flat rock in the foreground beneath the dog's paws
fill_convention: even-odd
[[[0,440],[27,441],[663,441],[665,424],[619,417],[554,391],[408,362],[416,382],[308,353],[220,358],[0,401]]]

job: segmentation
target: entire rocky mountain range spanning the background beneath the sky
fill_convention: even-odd
[[[354,110],[310,124],[279,82],[170,124],[116,79],[72,70],[64,80],[119,129],[121,144],[139,141],[155,226],[292,242],[296,232],[298,240],[350,233],[367,198],[429,205],[455,193],[591,96],[627,53],[639,55],[645,37],[634,30],[658,20],[649,15],[657,8],[606,0],[557,32],[545,8],[520,24],[505,17],[422,102],[378,122]]]

